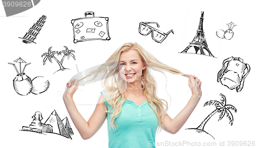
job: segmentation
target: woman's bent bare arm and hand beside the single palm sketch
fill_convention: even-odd
[[[190,97],[190,100],[174,119],[170,118],[168,114],[164,116],[163,127],[164,127],[164,130],[168,133],[175,134],[182,128],[182,126],[185,124],[190,114],[196,108],[202,96],[202,91],[201,91],[202,82],[195,76],[189,76],[189,77],[190,77],[188,82],[189,87],[191,88],[191,86],[193,86],[194,83],[197,83],[199,88],[195,86],[193,89],[191,89],[192,96]]]

